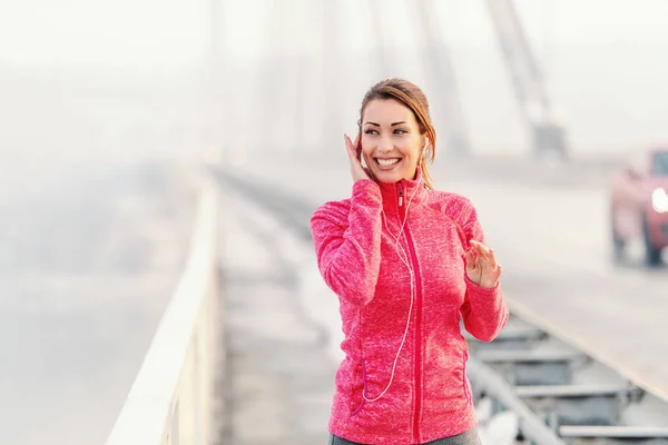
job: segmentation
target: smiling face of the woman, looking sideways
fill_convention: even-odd
[[[424,136],[410,108],[394,99],[374,99],[362,116],[362,155],[381,182],[413,179]]]

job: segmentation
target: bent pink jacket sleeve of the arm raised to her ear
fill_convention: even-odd
[[[374,296],[381,267],[379,186],[367,179],[353,185],[350,205],[327,202],[311,217],[317,266],[327,286],[358,306]]]

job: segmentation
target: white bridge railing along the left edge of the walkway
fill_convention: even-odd
[[[209,445],[218,365],[218,196],[199,190],[190,251],[176,291],[107,445]]]

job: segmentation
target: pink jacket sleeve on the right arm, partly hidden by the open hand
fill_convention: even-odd
[[[465,235],[466,245],[474,239],[484,244],[484,234],[478,219],[478,214],[471,201],[461,198],[460,220]],[[464,319],[464,327],[471,335],[482,342],[492,342],[508,322],[508,306],[503,298],[500,281],[492,288],[481,287],[469,279],[464,273],[466,291],[460,312]]]

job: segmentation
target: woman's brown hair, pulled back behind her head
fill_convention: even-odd
[[[362,125],[362,117],[364,116],[366,106],[369,102],[375,99],[399,100],[401,103],[410,108],[411,111],[413,111],[415,120],[420,127],[420,132],[423,135],[426,134],[426,137],[430,141],[424,149],[424,152],[420,157],[418,166],[420,166],[422,170],[424,186],[433,189],[434,187],[426,166],[432,164],[436,156],[436,130],[434,129],[434,126],[431,122],[431,117],[429,116],[429,101],[426,100],[426,96],[424,96],[424,92],[422,92],[418,86],[407,80],[397,78],[382,80],[371,87],[369,91],[366,91],[366,95],[364,95],[362,108],[360,109],[360,126]],[[362,127],[360,127],[360,130],[362,130]]]

